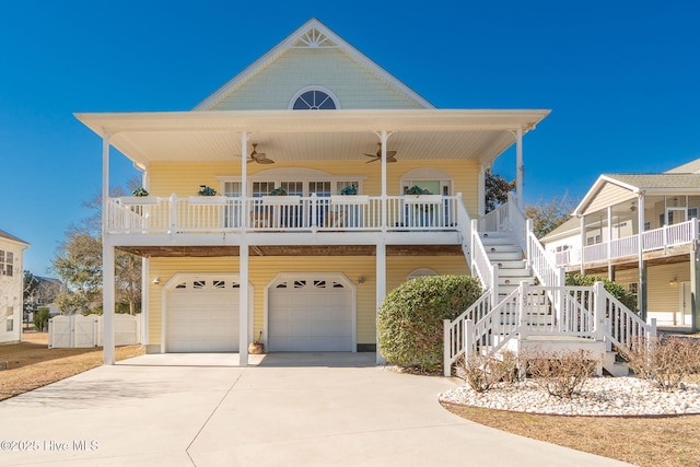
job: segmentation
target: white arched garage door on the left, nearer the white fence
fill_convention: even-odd
[[[167,292],[167,352],[238,351],[238,290],[231,279],[188,279]]]

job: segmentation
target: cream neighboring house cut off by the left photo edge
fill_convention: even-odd
[[[0,343],[22,340],[24,249],[28,246],[0,231]]]

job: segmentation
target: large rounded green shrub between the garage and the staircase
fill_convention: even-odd
[[[454,319],[481,295],[468,276],[429,276],[390,291],[377,313],[380,352],[399,366],[439,372],[443,358],[443,319]]]

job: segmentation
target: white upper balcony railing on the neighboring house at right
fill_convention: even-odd
[[[679,224],[642,232],[641,235],[630,235],[611,242],[560,252],[556,255],[556,264],[557,266],[578,266],[581,261],[590,264],[637,256],[640,236],[644,253],[687,245],[700,240],[699,222],[698,219],[691,219]]]

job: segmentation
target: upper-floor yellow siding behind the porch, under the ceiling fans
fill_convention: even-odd
[[[361,155],[361,154],[360,154]],[[478,161],[400,161],[388,164],[387,192],[389,196],[400,195],[401,177],[421,167],[438,168],[448,173],[453,177],[453,195],[462,192],[467,210],[476,217],[478,209]],[[378,163],[366,164],[364,160],[358,162],[306,162],[306,163],[277,163],[275,168],[313,168],[334,176],[366,175],[363,182],[363,195],[380,196],[382,192],[382,168]],[[259,164],[248,165],[248,176],[255,175],[269,167]],[[168,197],[175,194],[178,197],[196,196],[200,185],[208,185],[217,191],[221,191],[220,177],[240,176],[240,161],[231,163],[153,163],[150,166],[150,187],[152,196]],[[293,176],[291,176],[293,178]]]

